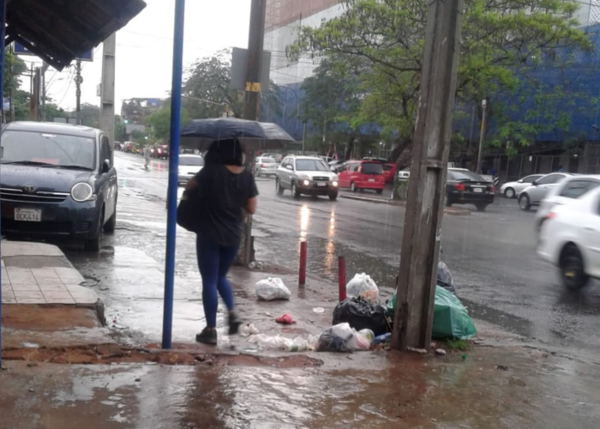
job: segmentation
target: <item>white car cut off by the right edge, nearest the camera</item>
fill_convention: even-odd
[[[600,279],[600,188],[569,204],[554,207],[546,216],[538,254],[556,265],[569,289]]]

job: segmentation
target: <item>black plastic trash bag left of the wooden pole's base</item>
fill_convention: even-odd
[[[375,336],[390,332],[385,308],[362,298],[346,299],[336,305],[332,324],[339,323],[348,323],[359,331],[370,329]]]

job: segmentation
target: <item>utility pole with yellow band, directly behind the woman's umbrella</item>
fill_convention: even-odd
[[[250,34],[248,37],[248,64],[246,66],[246,91],[244,95],[244,119],[257,121],[260,114],[260,93],[263,47],[265,40],[265,16],[267,0],[252,0],[250,9]],[[246,168],[254,165],[254,153],[246,154]],[[238,263],[245,266],[254,260],[252,241],[252,216],[247,215],[244,222],[244,236],[238,255]]]

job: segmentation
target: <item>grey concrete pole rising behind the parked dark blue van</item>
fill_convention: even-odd
[[[104,41],[102,52],[102,83],[100,84],[100,129],[111,143],[115,141],[115,65],[117,34]]]

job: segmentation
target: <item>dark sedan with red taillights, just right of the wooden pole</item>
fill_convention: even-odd
[[[449,168],[446,182],[446,206],[473,204],[480,212],[494,202],[494,185],[472,171]]]

